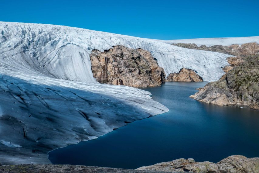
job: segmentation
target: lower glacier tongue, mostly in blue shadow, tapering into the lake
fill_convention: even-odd
[[[49,163],[47,153],[167,112],[127,86],[0,74],[1,164]]]

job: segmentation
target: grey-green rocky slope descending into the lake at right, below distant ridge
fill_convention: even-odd
[[[227,73],[220,80],[198,88],[199,92],[190,97],[220,106],[236,104],[259,109],[259,55],[230,60],[233,67],[225,69]]]

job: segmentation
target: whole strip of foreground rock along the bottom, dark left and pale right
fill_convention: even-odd
[[[21,164],[2,165],[0,173],[163,173],[163,172],[196,172],[196,173],[258,173],[259,157],[247,158],[242,155],[233,155],[218,163],[209,161],[196,162],[194,159],[176,159],[169,162],[157,163],[141,168],[121,169],[81,165],[54,165],[54,164]]]

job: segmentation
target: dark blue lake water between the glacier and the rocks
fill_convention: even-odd
[[[178,158],[218,162],[259,156],[259,111],[190,99],[206,83],[167,82],[142,88],[170,111],[129,123],[95,140],[49,153],[53,164],[135,169]]]

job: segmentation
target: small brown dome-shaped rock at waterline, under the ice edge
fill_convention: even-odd
[[[182,68],[179,73],[170,73],[166,81],[202,82],[203,79],[195,71]]]

